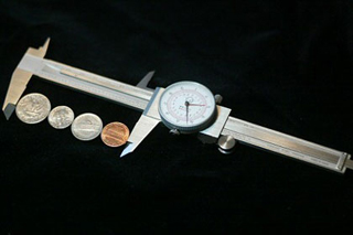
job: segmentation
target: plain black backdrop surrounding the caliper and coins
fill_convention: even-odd
[[[353,153],[349,1],[0,1],[0,94],[29,46],[128,84],[196,81],[232,116]],[[140,113],[35,76],[24,94],[130,130]],[[276,232],[349,226],[343,175],[246,146],[223,156],[162,125],[131,154],[0,117],[0,232]]]

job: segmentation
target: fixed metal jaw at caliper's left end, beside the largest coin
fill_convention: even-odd
[[[39,49],[29,47],[23,57],[25,57],[26,55],[32,55],[43,58],[47,51],[49,42],[50,39],[47,39],[44,45]],[[21,62],[23,61],[23,57]],[[21,64],[21,62],[19,63],[19,65]],[[2,106],[2,111],[8,120],[11,117],[13,110],[15,109],[15,105],[22,96],[26,87],[26,84],[30,82],[33,75],[31,72],[20,68],[19,65],[12,73],[8,93]]]

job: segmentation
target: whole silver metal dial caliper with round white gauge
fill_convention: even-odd
[[[150,72],[137,86],[128,85],[44,58],[49,42],[46,40],[40,49],[29,47],[14,70],[2,107],[7,119],[31,76],[36,75],[142,111],[120,157],[132,152],[159,122],[163,122],[175,135],[197,132],[203,142],[218,143],[224,153],[238,141],[340,173],[346,168],[353,169],[349,153],[231,117],[231,109],[220,105],[222,97],[214,96],[202,84],[183,81],[153,90],[147,87],[153,75]]]

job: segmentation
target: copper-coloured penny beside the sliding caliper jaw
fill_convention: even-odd
[[[125,124],[115,121],[103,128],[100,138],[109,147],[119,147],[126,143],[129,135],[129,128]]]

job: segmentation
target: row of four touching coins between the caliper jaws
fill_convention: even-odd
[[[39,93],[23,96],[17,105],[15,114],[25,124],[38,124],[47,117],[49,124],[56,129],[71,126],[74,137],[84,141],[100,135],[103,142],[109,147],[125,145],[130,135],[128,127],[118,121],[103,128],[101,119],[95,114],[86,113],[74,118],[74,111],[67,106],[51,109],[50,100]]]

